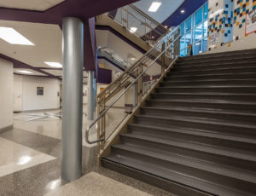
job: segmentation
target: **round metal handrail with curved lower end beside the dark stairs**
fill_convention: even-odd
[[[179,26],[178,26],[177,28],[179,28]],[[176,28],[174,31],[177,31],[177,28]],[[166,40],[165,40],[166,37],[170,37],[171,35],[172,35],[172,32],[170,32],[168,35],[166,35],[166,36],[160,41],[160,43],[166,42]],[[175,43],[175,42],[177,41],[177,39],[179,39],[179,37],[180,37],[180,35],[179,35],[178,37],[176,37],[176,38],[173,40],[173,43]],[[154,47],[154,49],[156,49],[157,46],[159,46],[159,43]],[[105,115],[106,112],[108,112],[108,110],[109,110],[111,107],[113,107],[113,105],[114,105],[117,101],[119,101],[119,99],[120,99],[123,95],[125,95],[125,93],[128,91],[128,89],[131,88],[132,85],[134,85],[134,84],[137,83],[138,79],[141,78],[141,77],[143,76],[143,74],[145,74],[145,73],[148,71],[148,69],[149,69],[151,66],[153,66],[154,63],[160,58],[160,56],[163,55],[164,53],[166,53],[166,50],[169,49],[170,47],[172,47],[171,44],[170,44],[166,49],[164,49],[163,51],[161,51],[161,52],[160,52],[160,55],[158,55],[157,57],[155,57],[154,61],[152,61],[152,62],[148,65],[148,67],[147,67],[142,73],[140,73],[140,74],[137,76],[137,78],[135,78],[134,81],[131,82],[131,84],[129,84],[129,86],[126,87],[125,90],[124,90],[114,101],[112,101],[112,103],[111,103],[111,104],[93,121],[93,123],[90,124],[90,126],[85,130],[85,140],[87,141],[87,143],[93,144],[93,143],[97,143],[97,142],[100,142],[100,141],[104,141],[104,140],[105,140],[105,138],[100,138],[100,139],[97,139],[97,140],[95,140],[95,141],[90,141],[90,140],[89,140],[89,130],[96,124],[96,122],[98,122],[99,119],[101,119],[101,118],[103,117],[103,115]],[[151,50],[151,49],[150,49],[150,50]],[[142,57],[141,59],[143,59],[143,57]],[[176,60],[177,60],[177,56],[175,57],[174,61],[176,61]],[[172,62],[173,62],[173,61],[172,61]],[[135,63],[134,66],[136,66],[136,65],[137,65],[137,63]],[[119,76],[119,78],[122,78],[123,76],[124,76],[124,74],[122,74],[121,76]]]

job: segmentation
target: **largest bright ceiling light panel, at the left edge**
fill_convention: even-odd
[[[9,27],[0,27],[0,38],[11,44],[34,45],[34,43],[22,36],[15,29]]]

